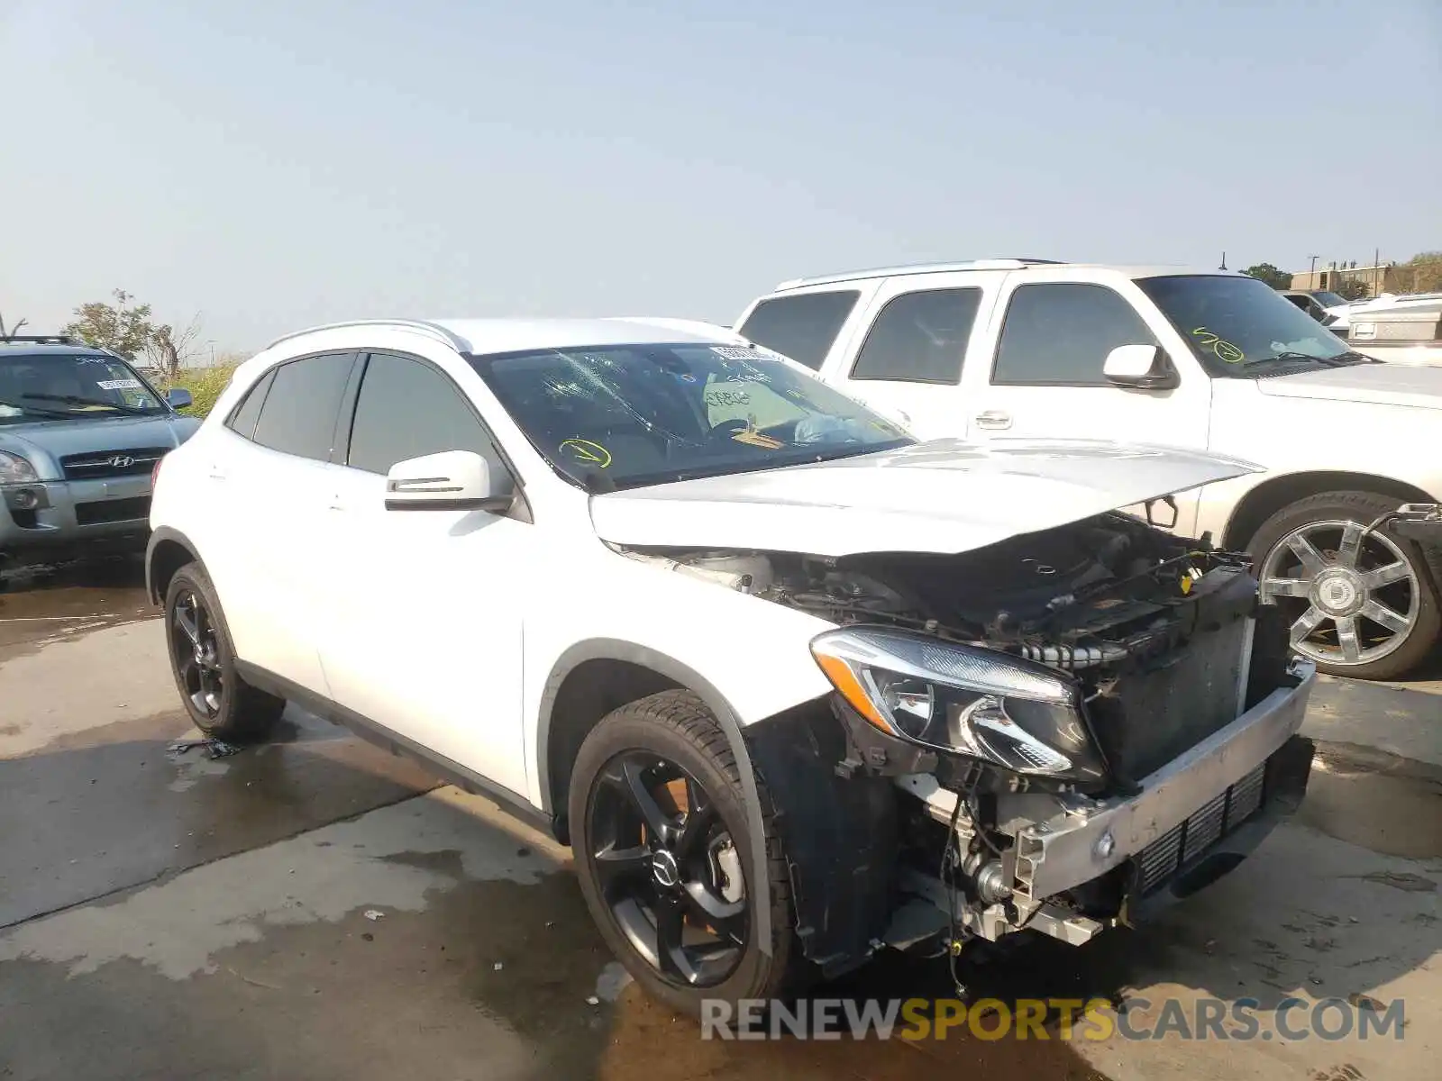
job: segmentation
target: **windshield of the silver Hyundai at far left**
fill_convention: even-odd
[[[0,424],[166,412],[124,360],[0,352]]]

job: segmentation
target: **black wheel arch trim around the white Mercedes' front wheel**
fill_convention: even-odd
[[[541,692],[541,711],[536,718],[536,775],[541,781],[541,809],[545,814],[557,817],[554,800],[551,797],[551,711],[555,706],[557,695],[565,677],[572,669],[588,660],[620,660],[630,664],[647,667],[679,686],[694,692],[715,716],[721,731],[725,732],[731,754],[735,755],[737,770],[741,774],[741,793],[746,796],[746,826],[751,837],[751,882],[769,882],[766,858],[766,823],[761,820],[761,800],[756,788],[756,768],[751,764],[751,754],[746,739],[741,737],[741,722],[725,695],[705,676],[689,664],[671,657],[647,646],[637,646],[633,641],[619,639],[588,639],[567,649],[547,677],[545,689]],[[771,953],[771,909],[770,905],[756,905],[757,938],[761,951]]]

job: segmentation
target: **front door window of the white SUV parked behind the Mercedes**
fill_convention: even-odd
[[[992,382],[1110,386],[1106,355],[1139,344],[1156,344],[1156,336],[1119,293],[1086,283],[1021,285],[1007,308]]]

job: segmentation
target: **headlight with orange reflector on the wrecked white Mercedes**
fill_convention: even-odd
[[[812,653],[888,735],[1082,786],[1106,774],[1077,685],[1044,664],[884,628],[826,631]]]

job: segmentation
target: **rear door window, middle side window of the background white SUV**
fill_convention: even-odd
[[[851,378],[959,383],[981,297],[979,288],[893,297],[871,324]]]

